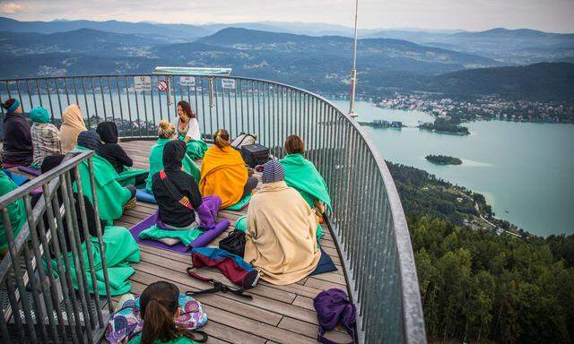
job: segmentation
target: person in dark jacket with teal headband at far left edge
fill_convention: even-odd
[[[32,162],[32,139],[28,120],[22,116],[20,100],[8,99],[2,103],[4,116],[4,167],[29,166]]]

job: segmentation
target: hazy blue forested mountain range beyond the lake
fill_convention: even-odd
[[[250,23],[262,28],[275,25],[274,30],[287,24]],[[219,66],[233,68],[234,75],[287,82],[319,92],[348,90],[351,38],[222,26],[224,24],[193,26],[115,21],[18,22],[0,18],[3,50],[0,75],[151,73],[157,65]],[[342,28],[305,24],[300,30],[327,32]],[[202,36],[212,30],[217,31]],[[446,38],[457,38],[462,42],[483,42],[484,47],[479,49],[477,43],[473,47],[475,53],[467,53],[459,48],[463,43],[454,47],[450,43],[424,45],[396,38],[360,39],[357,62],[360,90],[371,96],[395,90],[427,90],[449,94],[496,92],[518,98],[532,98],[536,94],[544,95],[544,99],[573,98],[571,92],[561,89],[571,89],[570,85],[574,84],[571,78],[574,64],[533,64],[518,68],[509,61],[488,57],[489,45],[495,47],[488,39],[520,37],[521,42],[538,41],[538,53],[548,54],[552,49],[570,51],[571,35],[534,30],[384,32],[391,32],[393,37],[410,35],[413,40],[417,40],[416,35],[443,42]],[[519,46],[517,42],[513,48]],[[526,75],[530,79],[525,78]],[[544,82],[537,82],[541,79]],[[557,89],[561,91],[552,91]]]

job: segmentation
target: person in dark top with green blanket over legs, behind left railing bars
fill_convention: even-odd
[[[79,227],[79,236],[82,242],[81,252],[83,257],[83,264],[86,270],[86,278],[88,282],[88,290],[91,293],[94,292],[93,284],[91,282],[91,271],[90,264],[88,260],[88,248],[87,245],[91,245],[91,255],[93,257],[94,270],[96,274],[96,286],[97,293],[99,295],[106,295],[106,282],[104,279],[103,262],[102,255],[100,252],[100,242],[97,236],[96,229],[96,219],[93,207],[91,205],[90,199],[83,196],[83,203],[85,207],[80,208],[78,194],[74,193],[75,202],[75,212]],[[81,218],[81,212],[84,211],[86,214],[86,219],[88,223],[88,233],[90,236],[85,238],[83,235],[83,223]],[[101,224],[102,241],[104,244],[104,254],[106,257],[106,265],[108,267],[108,277],[109,277],[109,290],[112,296],[122,295],[129,292],[132,289],[132,284],[129,281],[130,276],[135,272],[134,268],[130,266],[130,262],[140,262],[140,249],[135,243],[134,236],[131,235],[129,230],[124,227],[117,226],[104,226]],[[48,225],[48,224],[47,224]],[[66,259],[70,263],[70,274],[72,276],[72,284],[74,288],[78,288],[78,280],[74,265],[74,256],[72,254],[72,241],[69,236],[67,236],[67,223],[63,221],[63,232],[65,237],[65,251],[62,254],[66,254]],[[60,262],[64,264],[63,257],[60,257]],[[57,259],[54,258],[51,261],[52,267],[57,274]],[[86,287],[86,286],[84,286]]]

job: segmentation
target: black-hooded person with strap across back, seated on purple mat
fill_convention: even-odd
[[[152,176],[161,222],[173,229],[195,229],[201,225],[195,211],[202,203],[201,193],[194,177],[181,169],[185,155],[185,142],[168,142],[163,149],[163,170]]]

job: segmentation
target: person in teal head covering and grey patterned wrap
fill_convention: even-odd
[[[30,133],[34,151],[32,167],[40,168],[44,158],[62,151],[60,132],[56,125],[50,123],[50,116],[44,107],[32,108],[30,119],[32,120]]]

